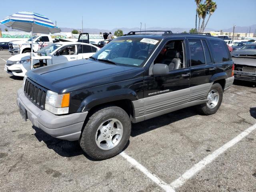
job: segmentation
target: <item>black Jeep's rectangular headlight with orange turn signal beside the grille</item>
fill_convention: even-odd
[[[58,94],[48,90],[44,108],[56,115],[67,114],[69,110],[69,100],[70,93]]]

